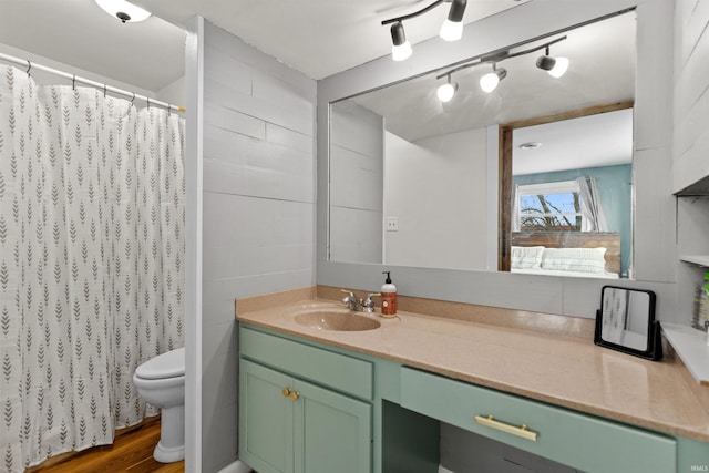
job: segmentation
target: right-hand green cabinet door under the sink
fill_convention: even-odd
[[[296,380],[296,473],[371,472],[371,404]]]

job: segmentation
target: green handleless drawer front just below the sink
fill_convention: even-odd
[[[322,350],[240,326],[242,357],[297,374],[361,399],[372,399],[373,367],[369,361]]]

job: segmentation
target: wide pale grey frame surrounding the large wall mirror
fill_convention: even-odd
[[[678,263],[675,249],[676,198],[672,195],[671,135],[672,68],[657,58],[674,55],[674,6],[665,0],[546,0],[527,2],[465,27],[463,39],[448,43],[432,39],[414,45],[408,61],[389,55],[318,81],[317,106],[317,266],[316,284],[376,289],[381,271],[392,270],[401,295],[463,304],[567,315],[593,319],[598,290],[607,280],[528,276],[511,273],[389,267],[378,264],[329,261],[328,176],[329,104],[366,91],[393,84],[446,64],[548,35],[625,9],[637,16],[637,63],[635,100],[634,181],[636,208],[634,270],[636,287],[658,294],[658,310],[667,311],[677,298]],[[554,11],[554,14],[549,14]],[[515,28],[510,28],[514,24]],[[387,42],[386,31],[382,41]],[[489,241],[497,247],[497,152],[489,156]],[[496,258],[489,266],[494,267]],[[619,285],[625,282],[620,281]],[[671,316],[670,316],[671,317]]]

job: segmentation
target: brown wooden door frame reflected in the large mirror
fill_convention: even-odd
[[[510,246],[512,241],[512,140],[514,130],[631,109],[634,105],[634,101],[615,102],[520,120],[500,125],[500,200],[497,208],[497,269],[500,271],[510,270]]]

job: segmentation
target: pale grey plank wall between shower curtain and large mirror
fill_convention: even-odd
[[[237,455],[234,299],[315,281],[316,82],[204,27],[202,471]]]

